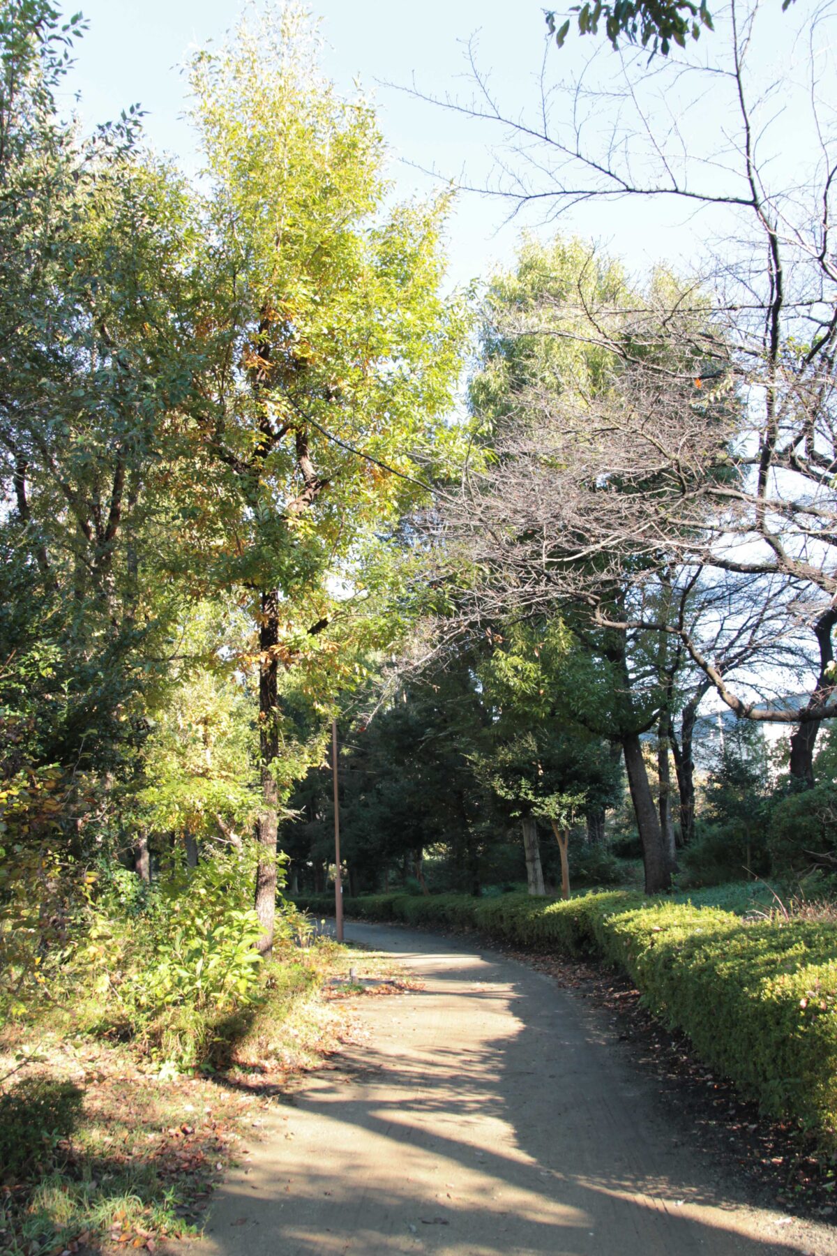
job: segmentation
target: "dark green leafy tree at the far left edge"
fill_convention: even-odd
[[[74,780],[125,765],[166,671],[177,595],[152,573],[193,360],[182,182],[134,112],[89,141],[56,113],[82,26],[0,9],[0,656],[40,659],[33,766]]]

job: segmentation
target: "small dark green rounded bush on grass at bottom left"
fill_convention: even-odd
[[[54,1164],[82,1114],[72,1081],[26,1078],[0,1094],[0,1178],[13,1181]]]

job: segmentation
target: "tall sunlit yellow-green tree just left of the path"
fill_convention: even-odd
[[[193,435],[206,489],[192,555],[250,592],[259,624],[261,740],[256,904],[270,950],[284,772],[280,672],[314,656],[323,700],[348,679],[358,555],[424,489],[464,320],[440,290],[447,197],[385,211],[371,107],[321,75],[295,10],[242,25],[192,67],[211,191],[196,334],[207,353]],[[207,526],[207,516],[211,522]],[[325,666],[323,666],[325,664]]]

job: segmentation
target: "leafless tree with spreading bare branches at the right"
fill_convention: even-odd
[[[769,668],[734,683],[712,631],[676,631],[698,688],[740,718],[797,725],[792,771],[804,782],[821,721],[837,713],[832,18],[828,6],[804,15],[796,43],[786,28],[776,79],[759,55],[758,3],[733,0],[718,18],[705,55],[651,69],[630,51],[592,58],[570,84],[551,84],[545,63],[528,116],[503,108],[473,57],[473,98],[435,102],[499,134],[497,181],[482,191],[509,214],[679,205],[695,215],[696,241],[715,237],[698,278],[668,293],[591,301],[580,284],[507,319],[504,335],[606,350],[611,378],[595,394],[528,383],[498,463],[463,501],[474,561],[504,571],[493,613],[509,590],[521,609],[567,594],[602,625],[640,627],[627,590],[661,571],[727,573],[739,593],[753,582],[750,595],[772,599],[772,642],[811,634],[808,701],[768,700]],[[791,97],[792,168],[777,162]]]

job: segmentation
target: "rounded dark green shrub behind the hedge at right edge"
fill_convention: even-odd
[[[802,877],[837,865],[837,788],[816,785],[773,805],[767,830],[773,870]]]

